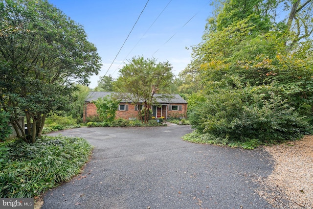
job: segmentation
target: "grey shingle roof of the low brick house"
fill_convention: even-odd
[[[98,98],[105,97],[107,95],[114,94],[114,92],[89,92],[89,95],[86,98],[86,102],[92,102],[97,100]],[[187,102],[179,95],[179,94],[170,94],[172,98],[159,98],[159,96],[162,96],[164,94],[155,94],[156,101],[158,103],[179,103],[179,104],[187,104]],[[129,102],[131,103],[132,101],[128,99],[122,99],[121,102]]]

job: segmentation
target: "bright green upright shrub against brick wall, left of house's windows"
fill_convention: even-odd
[[[105,96],[98,98],[94,101],[94,104],[97,107],[99,117],[105,122],[112,123],[115,118],[119,101],[111,98],[110,96]]]

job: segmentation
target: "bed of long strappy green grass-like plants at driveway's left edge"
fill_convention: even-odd
[[[69,181],[89,160],[92,147],[82,138],[43,137],[28,144],[0,144],[0,197],[32,198]]]

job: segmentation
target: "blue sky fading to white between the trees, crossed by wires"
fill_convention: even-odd
[[[99,75],[90,78],[90,88],[95,88],[99,76],[105,75],[109,70],[147,2],[147,0],[48,1],[76,23],[82,24],[89,41],[98,49],[103,67]],[[173,66],[173,73],[177,75],[191,60],[191,50],[185,47],[201,42],[206,19],[212,16],[210,2],[211,0],[149,0],[106,75],[118,77],[118,69],[134,56],[154,57],[158,62],[169,61]]]

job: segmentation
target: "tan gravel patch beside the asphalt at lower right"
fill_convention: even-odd
[[[256,192],[278,209],[313,209],[313,136],[264,149],[275,167]]]

